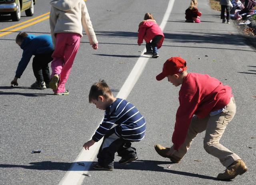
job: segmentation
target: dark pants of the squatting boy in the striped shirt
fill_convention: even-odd
[[[111,167],[114,165],[114,156],[117,152],[119,156],[130,158],[136,155],[136,149],[131,147],[132,143],[118,137],[115,133],[115,128],[111,128],[104,136],[100,146],[98,164],[102,167]]]

